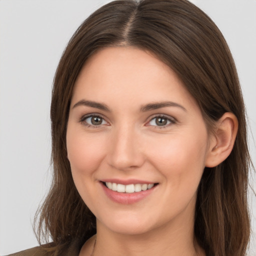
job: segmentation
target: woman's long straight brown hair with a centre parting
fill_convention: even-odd
[[[37,212],[38,240],[54,248],[96,232],[79,196],[66,151],[73,85],[88,57],[102,47],[135,46],[170,66],[196,99],[208,128],[223,113],[238,119],[230,155],[205,168],[197,192],[194,234],[206,255],[243,256],[249,239],[247,178],[250,157],[244,103],[233,58],[213,21],[187,0],[117,0],[92,13],[75,31],[59,61],[52,89],[53,180]],[[166,202],[168,203],[168,202]]]

